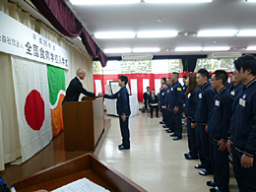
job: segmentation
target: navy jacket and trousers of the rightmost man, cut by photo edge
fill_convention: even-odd
[[[256,191],[256,79],[243,86],[233,102],[230,122],[233,171],[239,191]],[[253,158],[253,166],[241,165],[243,155]]]

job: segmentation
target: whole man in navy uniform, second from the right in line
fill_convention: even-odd
[[[208,181],[207,184],[216,186],[210,191],[229,191],[229,160],[226,143],[233,98],[224,87],[227,78],[228,75],[224,70],[217,70],[211,79],[211,85],[216,90],[217,95],[215,96],[215,105],[207,128],[207,133],[210,136],[211,161],[215,175],[214,181]]]

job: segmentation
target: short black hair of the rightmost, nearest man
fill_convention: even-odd
[[[256,58],[253,55],[243,55],[236,59],[234,62],[234,67],[237,71],[240,71],[241,68],[243,71],[246,71],[247,69],[251,70],[251,74],[253,76],[256,75]]]

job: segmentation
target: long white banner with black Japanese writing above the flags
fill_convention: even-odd
[[[10,16],[0,12],[0,51],[69,68],[68,51]]]

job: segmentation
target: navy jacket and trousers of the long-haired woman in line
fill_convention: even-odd
[[[189,93],[188,96],[185,96],[185,115],[187,117],[187,134],[188,134],[188,149],[189,155],[197,158],[198,150],[196,146],[196,128],[191,128],[191,123],[195,123],[195,113],[197,106],[197,97],[199,89],[196,88],[192,93]]]

